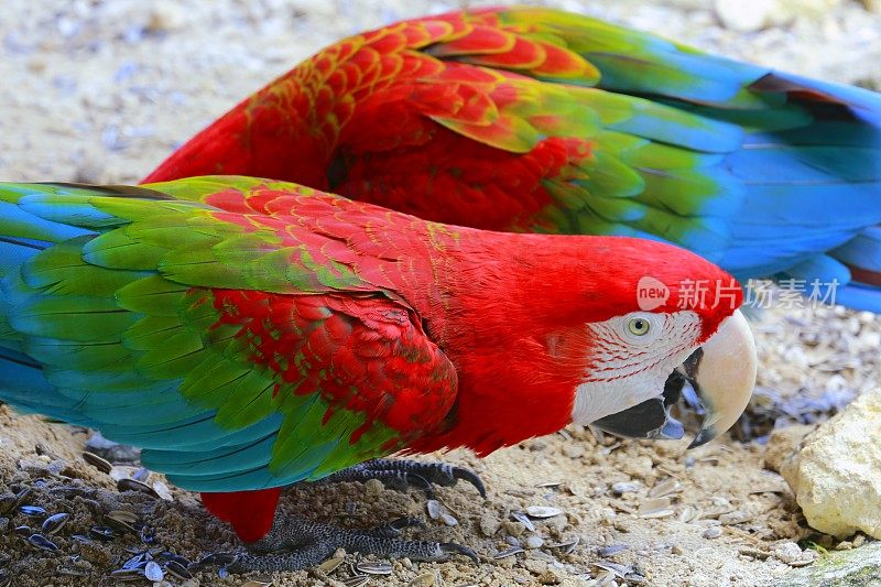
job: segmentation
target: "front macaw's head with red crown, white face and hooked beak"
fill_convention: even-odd
[[[608,258],[590,269],[602,271],[594,283],[608,291],[579,292],[605,303],[585,323],[587,368],[573,421],[630,437],[681,438],[670,409],[687,381],[706,411],[692,446],[707,443],[737,421],[755,383],[740,284],[676,247],[609,241]]]

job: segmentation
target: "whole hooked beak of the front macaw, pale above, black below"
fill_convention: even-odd
[[[686,381],[706,411],[688,448],[700,446],[737,422],[755,385],[758,358],[747,318],[736,311],[704,346],[673,371],[661,396],[592,422],[599,430],[630,438],[679,439],[685,430],[671,414]]]

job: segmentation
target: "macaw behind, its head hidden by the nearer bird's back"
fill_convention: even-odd
[[[483,229],[660,238],[881,311],[879,95],[577,14],[454,12],[340,41],[146,181],[215,173]]]

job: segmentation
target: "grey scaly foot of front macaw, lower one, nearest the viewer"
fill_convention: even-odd
[[[413,561],[446,561],[459,554],[479,563],[477,554],[460,544],[400,537],[403,529],[423,525],[416,518],[401,518],[370,530],[349,530],[276,515],[269,534],[249,545],[247,552],[215,553],[199,561],[197,566],[226,565],[230,573],[300,570],[317,565],[337,548],[384,558],[406,556]]]

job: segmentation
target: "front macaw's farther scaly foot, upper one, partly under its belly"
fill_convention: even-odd
[[[453,487],[461,479],[468,481],[487,499],[487,489],[480,477],[470,469],[457,467],[448,463],[421,463],[403,458],[374,458],[366,460],[325,477],[323,482],[360,481],[370,479],[382,481],[389,489],[399,491],[407,487],[417,487],[425,490],[429,499],[434,499],[433,486]]]

